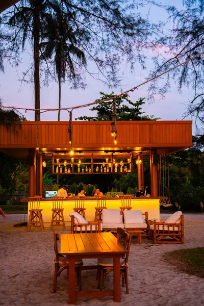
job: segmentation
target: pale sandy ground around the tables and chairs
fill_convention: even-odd
[[[1,216],[0,216],[1,217]],[[167,215],[164,216],[164,219]],[[0,304],[5,306],[64,306],[68,302],[68,278],[62,272],[57,293],[53,293],[51,276],[54,262],[53,232],[27,232],[26,227],[13,227],[24,221],[24,215],[0,218]],[[162,259],[167,251],[204,246],[204,215],[185,215],[185,244],[152,244],[133,240],[130,253],[130,294],[121,288],[121,303],[125,306],[204,305],[204,279],[190,276],[168,265]],[[62,230],[59,233],[64,233]],[[84,264],[96,264],[84,260]],[[96,289],[95,270],[83,271],[83,290]],[[113,286],[110,273],[104,283]],[[78,298],[77,305],[118,305],[112,298]]]

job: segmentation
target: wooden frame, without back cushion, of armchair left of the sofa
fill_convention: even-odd
[[[74,223],[74,216],[71,216],[71,234],[99,233],[100,221],[87,221],[87,223]]]

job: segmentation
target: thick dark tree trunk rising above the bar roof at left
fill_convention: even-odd
[[[40,6],[34,9],[34,92],[35,109],[40,109]],[[35,111],[35,121],[40,121],[40,111]]]

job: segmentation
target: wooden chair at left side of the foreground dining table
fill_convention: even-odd
[[[53,292],[56,292],[57,288],[57,278],[60,276],[62,271],[69,269],[69,261],[66,257],[58,253],[58,244],[57,241],[59,240],[59,234],[54,231],[54,250],[55,250],[55,262],[54,262],[54,267],[55,267],[55,272],[54,272],[54,282],[53,282]],[[83,261],[81,259],[77,259],[75,261],[75,272],[77,273],[77,279],[78,279],[78,285],[80,288],[80,291],[82,291],[82,266],[83,266]],[[71,282],[72,280],[70,280]]]

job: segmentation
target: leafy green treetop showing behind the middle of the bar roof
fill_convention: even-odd
[[[113,97],[115,94],[114,92],[111,92],[110,94],[105,94],[104,92],[100,92],[100,98],[96,99],[95,101],[107,99],[110,97]],[[133,107],[129,107],[125,105],[125,103],[128,103],[129,105]],[[133,103],[129,99],[129,94],[124,94],[120,97],[116,98],[116,110],[117,110],[117,116],[116,120],[158,120],[160,118],[154,118],[152,115],[143,115],[144,112],[141,112],[142,105],[145,104],[144,98],[139,98],[138,101]],[[78,117],[75,120],[85,120],[85,121],[111,121],[112,120],[112,112],[113,112],[113,101],[107,101],[100,104],[97,104],[97,106],[94,106],[90,109],[90,111],[96,111],[96,116],[94,117]]]

